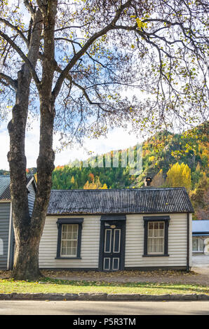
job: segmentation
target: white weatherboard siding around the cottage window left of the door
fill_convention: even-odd
[[[58,218],[83,218],[81,259],[55,259],[57,256]],[[100,216],[47,216],[39,247],[41,268],[97,268],[100,248]]]

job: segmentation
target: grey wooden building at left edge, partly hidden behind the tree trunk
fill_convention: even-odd
[[[36,192],[34,176],[27,177],[27,190],[29,212],[32,214]],[[10,177],[0,176],[0,270],[13,267],[14,245]]]

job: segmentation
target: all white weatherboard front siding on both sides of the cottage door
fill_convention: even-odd
[[[168,227],[169,256],[142,257],[144,253],[143,216],[159,214],[126,215],[125,267],[186,267],[187,266],[187,214],[163,214],[170,216]],[[57,255],[58,218],[83,218],[81,232],[81,259],[55,259]],[[97,269],[100,251],[101,216],[47,216],[39,248],[41,268],[92,268]],[[190,214],[191,260],[191,214]],[[191,264],[190,264],[191,266]]]

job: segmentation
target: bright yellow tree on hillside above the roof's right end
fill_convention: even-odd
[[[176,162],[167,172],[166,184],[169,187],[184,186],[189,191],[191,188],[191,169],[184,162]]]

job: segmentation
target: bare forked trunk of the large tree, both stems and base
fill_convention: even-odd
[[[13,108],[13,119],[8,125],[11,137],[8,161],[11,169],[11,197],[16,243],[13,277],[22,280],[36,280],[41,275],[39,271],[39,243],[50,198],[55,158],[53,152],[55,97],[53,97],[51,89],[54,74],[54,27],[58,1],[38,2],[41,11],[38,10],[36,13],[30,42],[32,46],[29,48],[28,56],[35,67],[39,56],[41,27],[43,25],[44,56],[42,79],[39,87],[41,125],[39,158],[37,160],[37,190],[32,217],[29,216],[26,188],[25,127],[31,82],[31,74],[26,65],[22,67],[21,74],[19,74],[17,102]]]

